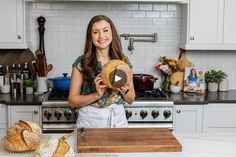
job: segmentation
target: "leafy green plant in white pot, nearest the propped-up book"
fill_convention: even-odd
[[[222,82],[227,75],[222,71],[216,71],[216,70],[209,70],[205,73],[205,79],[208,83],[208,91],[218,91],[218,86],[220,82]]]

